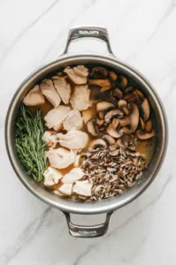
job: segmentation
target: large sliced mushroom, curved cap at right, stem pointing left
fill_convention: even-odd
[[[134,103],[130,103],[128,106],[131,109],[130,116],[120,119],[119,122],[121,127],[130,125],[129,128],[126,127],[126,133],[134,133],[139,123],[139,109]]]

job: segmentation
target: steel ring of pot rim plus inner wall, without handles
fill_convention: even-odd
[[[16,153],[14,143],[14,124],[19,111],[19,106],[24,96],[27,95],[27,92],[42,79],[50,77],[51,74],[62,71],[66,66],[73,64],[101,65],[111,68],[112,71],[114,70],[121,75],[125,75],[134,83],[135,87],[140,88],[142,93],[148,98],[153,110],[156,127],[156,143],[153,155],[149,162],[148,170],[142,173],[142,178],[139,178],[132,188],[128,189],[126,193],[123,193],[117,197],[112,197],[110,199],[102,201],[88,202],[72,201],[58,197],[57,195],[43,189],[42,186],[39,186],[34,182],[32,178],[27,175],[27,172],[21,165],[19,157]],[[120,208],[126,205],[126,203],[133,201],[134,198],[139,196],[156,177],[157,171],[159,170],[163,162],[167,144],[165,111],[156,92],[153,90],[149,82],[144,79],[141,74],[139,74],[129,66],[126,66],[126,64],[120,63],[115,58],[99,57],[96,55],[61,57],[56,62],[48,64],[42,67],[42,69],[38,70],[37,72],[34,72],[34,74],[26,79],[19,87],[18,91],[11,100],[11,105],[7,113],[5,125],[5,140],[13,169],[16,171],[22,183],[27,187],[28,190],[34,193],[35,196],[40,198],[42,201],[49,203],[51,206],[59,208],[66,212],[80,214],[98,214]]]

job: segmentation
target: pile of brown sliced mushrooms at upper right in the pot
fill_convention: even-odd
[[[111,102],[96,102],[98,117],[90,119],[87,123],[90,134],[96,137],[102,135],[101,139],[93,140],[92,147],[105,147],[106,143],[113,145],[115,140],[125,133],[135,133],[140,140],[155,136],[149,101],[141,90],[128,86],[126,77],[96,66],[90,73],[88,85],[90,89],[91,86],[99,87],[100,93],[109,93],[113,98]]]

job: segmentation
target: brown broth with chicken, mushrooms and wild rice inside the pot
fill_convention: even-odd
[[[39,161],[22,150],[19,133],[17,151],[28,174],[50,192],[81,201],[107,199],[134,186],[147,170],[155,147],[154,115],[141,90],[118,72],[67,67],[35,85],[24,105],[27,128],[34,117],[38,123],[34,135],[28,129],[26,134],[36,142],[32,149]],[[40,149],[45,151],[41,158]]]

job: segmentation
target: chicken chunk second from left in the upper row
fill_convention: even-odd
[[[54,108],[57,108],[61,102],[60,96],[57,94],[57,91],[53,85],[52,80],[43,79],[40,84],[42,95],[45,95],[48,101],[53,105]]]

